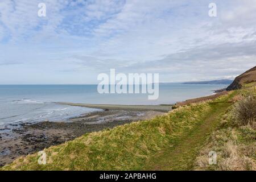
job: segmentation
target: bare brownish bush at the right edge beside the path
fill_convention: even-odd
[[[234,105],[232,112],[233,122],[238,125],[248,125],[255,122],[256,118],[256,99],[253,96],[247,96]]]

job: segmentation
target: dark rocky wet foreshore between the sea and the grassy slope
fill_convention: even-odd
[[[168,105],[169,107],[169,105]],[[99,107],[97,107],[99,108]],[[13,162],[22,155],[28,155],[44,148],[64,143],[86,133],[113,128],[118,125],[150,119],[162,115],[164,110],[150,109],[118,109],[101,107],[104,111],[96,111],[69,119],[68,122],[23,123],[10,125],[0,131],[0,166]],[[171,110],[171,109],[170,109]],[[165,110],[167,111],[167,110]]]

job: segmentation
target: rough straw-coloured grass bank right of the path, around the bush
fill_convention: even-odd
[[[249,95],[247,94],[249,93]],[[238,90],[240,99],[255,94],[251,85]],[[237,102],[240,102],[239,100]],[[193,169],[199,170],[256,170],[256,123],[250,122],[241,125],[241,121],[234,122],[234,112],[237,105],[230,107],[222,116],[220,127],[213,131],[194,162]],[[256,117],[256,115],[254,115]],[[238,123],[237,123],[238,122]],[[241,122],[241,123],[239,123]],[[217,152],[217,164],[209,165],[208,152]]]

